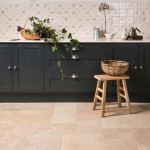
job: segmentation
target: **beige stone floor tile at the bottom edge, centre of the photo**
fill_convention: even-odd
[[[68,133],[62,136],[61,150],[106,150],[103,134]]]

